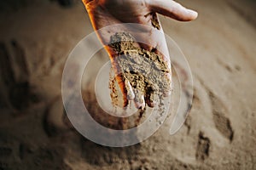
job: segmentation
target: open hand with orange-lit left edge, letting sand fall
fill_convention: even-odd
[[[118,56],[116,51],[108,45],[111,37],[120,31],[129,30],[125,25],[119,27],[111,27],[108,31],[97,31],[102,27],[113,26],[122,23],[137,23],[148,26],[146,30],[129,31],[132,37],[141,39],[145,43],[136,42],[137,47],[154,51],[159,54],[166,64],[165,76],[170,82],[165,89],[164,94],[171,93],[171,61],[169,59],[166,39],[162,31],[162,26],[157,14],[163,14],[174,20],[189,21],[195,20],[197,13],[193,10],[184,8],[179,3],[172,0],[83,0],[84,6],[90,15],[92,26],[109,54],[113,68],[116,72],[116,81],[122,91],[124,97],[124,106],[128,105],[129,99],[136,99],[137,108],[144,108],[145,103],[153,107],[154,101],[150,99],[150,95],[134,93],[136,90],[131,87],[131,82],[119,75],[121,67],[115,57]],[[148,45],[150,44],[150,45]],[[142,95],[142,96],[137,96]],[[139,99],[139,100],[138,100]]]

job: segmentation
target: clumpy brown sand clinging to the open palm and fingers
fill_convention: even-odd
[[[171,80],[166,77],[170,70],[162,56],[154,53],[154,50],[136,47],[135,38],[128,32],[115,33],[110,41],[110,46],[118,54],[113,59],[115,71],[125,82],[125,86],[130,82],[135,103],[142,104],[144,98],[151,106],[162,105],[163,94],[171,90]],[[109,82],[113,105],[117,105],[118,94],[114,81]],[[127,92],[128,98],[130,95]]]

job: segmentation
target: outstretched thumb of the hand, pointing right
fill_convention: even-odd
[[[163,14],[174,20],[195,20],[198,15],[194,10],[184,8],[181,4],[172,0],[148,0],[148,5],[153,12]]]

